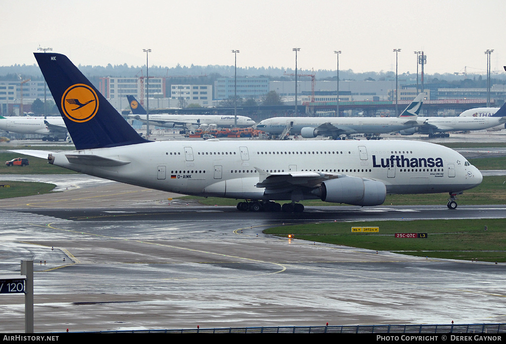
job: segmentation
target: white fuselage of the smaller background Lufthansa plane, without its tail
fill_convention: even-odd
[[[131,118],[138,118],[143,123],[146,123],[146,115],[129,115]],[[150,114],[149,121],[153,125],[160,125],[155,122],[176,123],[175,126],[185,126],[187,124],[216,124],[222,128],[229,128],[234,126],[233,115],[171,115],[171,114]],[[249,117],[237,116],[237,127],[248,127],[255,125],[255,121]],[[160,125],[163,126],[163,125]],[[174,125],[170,125],[173,127]]]

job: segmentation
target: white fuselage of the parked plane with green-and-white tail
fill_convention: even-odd
[[[258,123],[257,128],[278,135],[290,126],[291,134],[300,134],[302,128],[330,123],[343,131],[340,134],[387,134],[416,125],[414,121],[410,121],[412,124],[409,125],[403,124],[407,121],[410,117],[273,117]]]

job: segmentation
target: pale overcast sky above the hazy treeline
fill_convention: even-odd
[[[0,65],[33,64],[51,47],[74,64],[233,65],[416,73],[506,65],[504,0],[0,0]]]

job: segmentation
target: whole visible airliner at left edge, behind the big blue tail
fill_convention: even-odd
[[[65,122],[60,116],[0,116],[0,129],[12,133],[44,135],[43,141],[65,140],[68,136]]]

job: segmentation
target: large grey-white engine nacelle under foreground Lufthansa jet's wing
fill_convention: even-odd
[[[380,205],[387,197],[382,182],[348,176],[322,182],[319,191],[322,201],[352,205]]]

